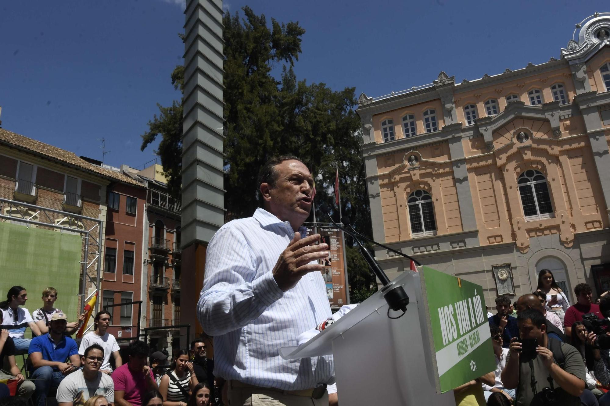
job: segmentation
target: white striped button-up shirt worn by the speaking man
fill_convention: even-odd
[[[301,237],[307,229],[300,227]],[[214,375],[249,385],[303,390],[334,383],[332,356],[284,360],[279,348],[327,318],[331,307],[321,272],[309,272],[283,292],[273,267],[294,232],[257,208],[224,224],[207,246],[198,318],[214,336]]]

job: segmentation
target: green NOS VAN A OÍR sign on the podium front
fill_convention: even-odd
[[[433,363],[445,393],[496,368],[483,288],[427,266],[420,274]]]

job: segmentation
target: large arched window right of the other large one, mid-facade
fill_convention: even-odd
[[[547,178],[535,169],[528,169],[517,179],[525,220],[550,218],[553,214]]]

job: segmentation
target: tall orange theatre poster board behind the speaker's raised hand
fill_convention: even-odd
[[[307,227],[307,234],[314,233],[313,223],[306,223],[304,226]],[[317,232],[320,234],[320,243],[328,244],[330,251],[328,257],[320,260],[320,263],[324,265],[324,271],[321,273],[326,285],[326,296],[328,296],[331,308],[339,308],[348,304],[343,233],[336,227],[328,227],[320,223],[318,223]]]

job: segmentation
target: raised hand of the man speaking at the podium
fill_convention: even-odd
[[[320,234],[301,238],[301,233],[295,232],[295,237],[288,247],[279,255],[278,262],[273,267],[273,278],[278,287],[287,291],[295,287],[308,272],[322,271],[324,265],[317,260],[328,256],[328,244],[314,244],[320,240]],[[316,261],[315,263],[310,263]]]

